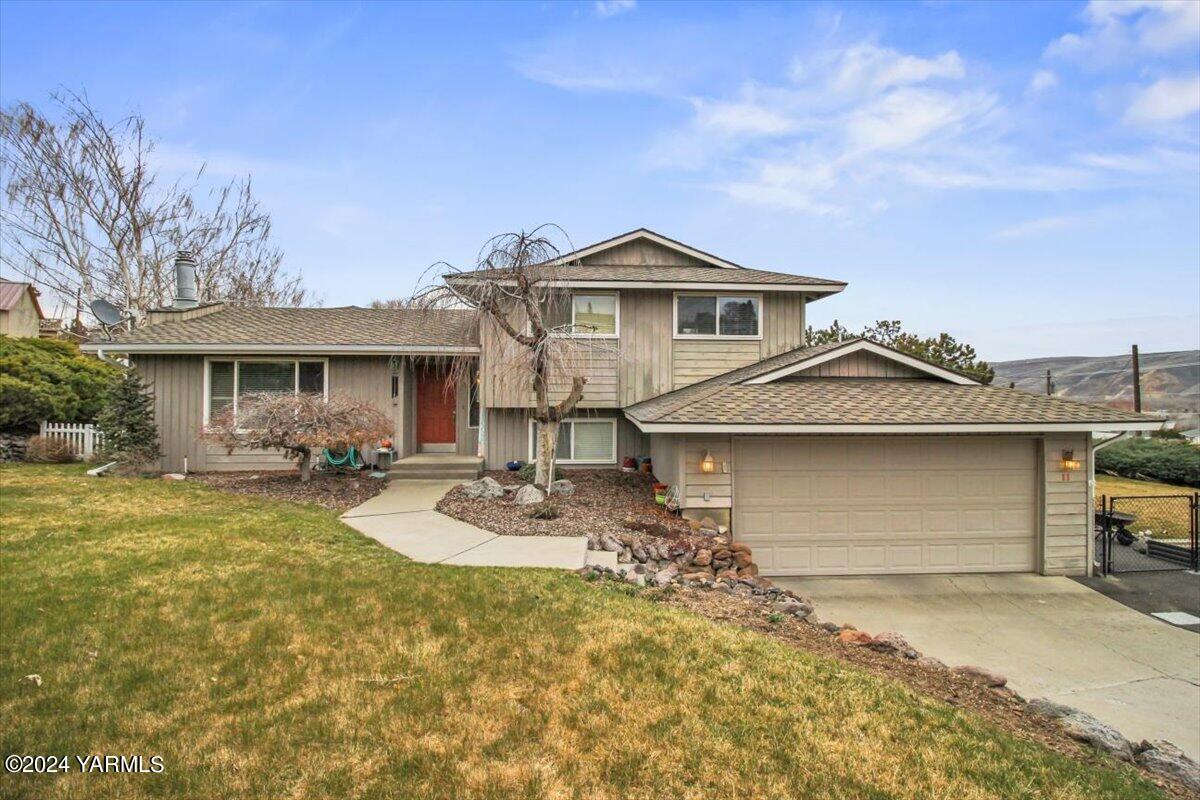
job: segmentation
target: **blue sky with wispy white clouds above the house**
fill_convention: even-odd
[[[1200,4],[0,5],[0,101],[250,174],[325,305],[542,222],[992,360],[1200,345]]]

